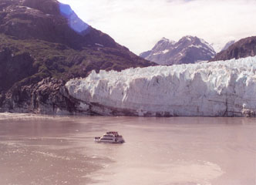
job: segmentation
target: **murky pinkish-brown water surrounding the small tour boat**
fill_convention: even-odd
[[[94,143],[119,131],[126,143]],[[0,184],[255,185],[256,119],[0,114]]]

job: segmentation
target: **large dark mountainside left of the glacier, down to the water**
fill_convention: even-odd
[[[56,0],[0,0],[0,42],[0,112],[71,113],[69,79],[156,66]]]

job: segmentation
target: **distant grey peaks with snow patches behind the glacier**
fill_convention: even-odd
[[[163,38],[152,50],[140,54],[144,59],[160,65],[173,65],[207,61],[216,52],[204,39],[184,36],[178,42]]]

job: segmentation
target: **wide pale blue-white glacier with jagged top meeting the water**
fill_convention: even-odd
[[[66,82],[80,109],[105,116],[256,116],[256,56],[95,71]]]

